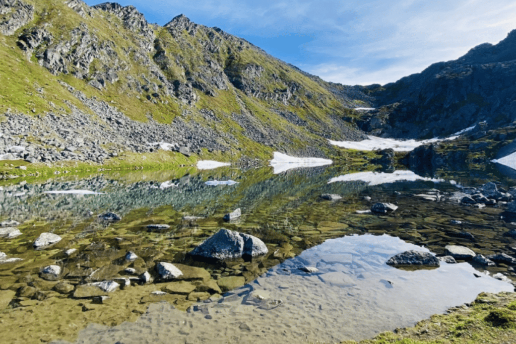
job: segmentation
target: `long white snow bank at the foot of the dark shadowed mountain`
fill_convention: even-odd
[[[381,149],[392,148],[396,152],[410,152],[414,148],[427,144],[434,143],[440,141],[451,141],[455,140],[459,135],[464,134],[465,132],[469,132],[476,126],[473,125],[471,127],[460,130],[454,135],[448,136],[443,139],[433,138],[428,140],[416,141],[416,140],[397,140],[397,139],[384,139],[381,137],[376,137],[372,135],[367,135],[367,140],[362,141],[330,141],[330,144],[346,148],[346,149],[356,149],[359,151],[376,151]]]

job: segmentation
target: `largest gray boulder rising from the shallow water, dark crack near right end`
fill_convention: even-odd
[[[204,240],[190,254],[192,256],[224,260],[243,256],[255,257],[267,252],[269,250],[262,240],[249,234],[220,228],[220,231]]]

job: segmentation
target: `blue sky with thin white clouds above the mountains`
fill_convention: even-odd
[[[102,1],[86,1],[95,5]],[[218,26],[304,71],[386,84],[516,29],[514,0],[120,0],[150,23]]]

